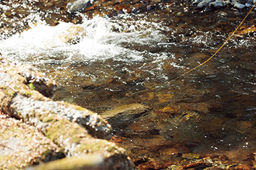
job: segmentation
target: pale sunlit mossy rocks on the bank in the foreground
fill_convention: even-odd
[[[106,140],[111,138],[111,125],[92,111],[43,96],[52,94],[56,84],[36,68],[1,58],[0,84],[4,169],[63,157],[67,160],[61,164],[68,169],[133,169],[125,150]],[[87,157],[90,161],[83,162]],[[57,165],[31,169],[62,169]]]

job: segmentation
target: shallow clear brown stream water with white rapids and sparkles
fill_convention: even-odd
[[[137,165],[187,152],[256,149],[255,31],[233,36],[211,61],[171,81],[211,57],[247,10],[186,8],[180,15],[163,8],[90,20],[78,13],[79,24],[52,26],[45,16],[62,16],[61,9],[0,6],[21,7],[30,9],[23,17],[1,15],[1,28],[9,29],[1,33],[0,52],[55,79],[53,100],[99,114],[133,103],[152,109],[113,125]],[[243,30],[255,23],[253,11]]]

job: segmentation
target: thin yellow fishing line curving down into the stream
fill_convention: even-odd
[[[236,31],[239,29],[239,27],[240,27],[240,26],[243,24],[243,22],[246,20],[246,18],[247,18],[248,15],[250,14],[250,12],[252,12],[252,10],[253,10],[253,8],[255,7],[255,5],[256,5],[256,2],[254,3],[253,7],[250,8],[250,11],[247,13],[246,17],[244,17],[243,20],[240,22],[239,26],[236,27],[235,31],[233,31],[233,33],[229,36],[229,38],[227,38],[227,40],[222,44],[222,46],[221,46],[209,59],[207,59],[206,61],[204,61],[204,63],[201,63],[201,64],[197,65],[196,67],[192,68],[191,70],[188,70],[187,72],[183,73],[182,75],[176,77],[175,79],[172,79],[170,82],[167,82],[166,84],[169,84],[169,83],[173,82],[174,80],[179,79],[180,77],[183,77],[184,75],[187,75],[187,73],[192,72],[192,70],[195,70],[195,69],[199,68],[201,65],[204,65],[205,63],[207,63],[208,61],[210,61],[211,59],[213,59],[213,56],[215,56],[215,55],[220,51],[220,49],[222,49],[222,47],[227,44],[227,41],[234,35],[234,33],[236,33]]]

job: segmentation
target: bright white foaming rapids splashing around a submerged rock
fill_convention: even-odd
[[[150,24],[150,23],[148,23]],[[118,24],[111,19],[94,17],[92,20],[84,20],[80,26],[85,29],[85,37],[74,45],[66,44],[60,38],[62,33],[74,24],[61,22],[57,26],[48,26],[44,22],[31,25],[31,29],[15,34],[6,40],[1,40],[0,51],[2,54],[17,60],[31,62],[34,56],[41,59],[55,54],[63,54],[65,59],[109,59],[115,60],[141,60],[143,52],[122,47],[125,43],[150,44],[156,40],[162,40],[163,35],[154,28],[136,30],[138,26],[145,25],[136,21],[134,24]],[[157,26],[157,24],[155,24]],[[154,25],[152,25],[154,27]],[[120,31],[113,31],[120,29]],[[122,31],[127,29],[128,31]],[[43,55],[47,54],[45,57]],[[73,56],[71,56],[73,55]],[[36,60],[38,61],[38,60]]]

